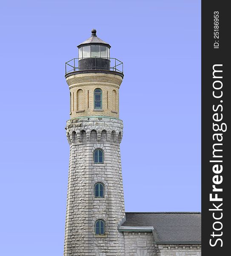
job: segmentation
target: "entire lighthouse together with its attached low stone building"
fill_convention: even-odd
[[[70,144],[64,256],[201,256],[200,213],[126,212],[119,119],[123,63],[92,30],[66,63]]]

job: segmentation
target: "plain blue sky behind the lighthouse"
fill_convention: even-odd
[[[200,1],[3,1],[0,255],[63,255],[65,62],[92,28],[124,62],[125,210],[201,209]]]

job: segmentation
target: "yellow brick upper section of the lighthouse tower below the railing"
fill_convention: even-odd
[[[123,74],[117,72],[73,72],[66,75],[70,89],[70,119],[91,116],[119,118],[119,88]],[[94,91],[102,91],[102,106],[94,105]]]

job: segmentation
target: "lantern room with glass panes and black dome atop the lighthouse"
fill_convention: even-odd
[[[79,70],[110,70],[111,46],[91,30],[91,37],[77,46],[79,48]]]

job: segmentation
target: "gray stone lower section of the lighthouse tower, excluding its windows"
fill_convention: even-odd
[[[88,118],[67,122],[70,166],[65,233],[65,256],[124,256],[125,218],[120,141],[123,123],[118,119]],[[93,152],[101,148],[103,163],[94,163]],[[94,185],[105,186],[104,198],[94,198]],[[106,223],[105,236],[96,236],[97,219]]]

